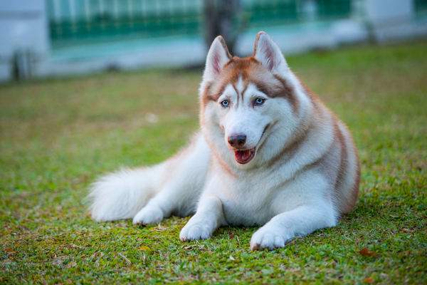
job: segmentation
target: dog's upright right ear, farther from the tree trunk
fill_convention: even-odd
[[[286,74],[288,72],[288,64],[283,58],[280,48],[273,41],[273,38],[270,38],[263,31],[260,31],[256,36],[253,58],[273,74]]]

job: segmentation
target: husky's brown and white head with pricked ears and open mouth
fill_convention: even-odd
[[[222,156],[234,152],[238,165],[251,162],[275,129],[284,128],[286,135],[287,124],[295,121],[299,102],[292,81],[295,76],[267,33],[258,33],[248,58],[232,58],[218,36],[200,88],[201,126],[209,145]]]

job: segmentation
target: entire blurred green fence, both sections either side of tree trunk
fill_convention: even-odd
[[[197,36],[204,0],[46,0],[53,48]],[[417,0],[420,1],[420,0]],[[242,0],[248,28],[348,18],[352,0]]]

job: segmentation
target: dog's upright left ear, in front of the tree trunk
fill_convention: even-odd
[[[212,43],[211,48],[209,48],[203,80],[214,80],[230,60],[231,55],[228,52],[226,41],[224,41],[222,36],[217,36]]]

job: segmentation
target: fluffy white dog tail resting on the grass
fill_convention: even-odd
[[[97,222],[132,219],[157,192],[164,165],[123,169],[90,187],[90,212]]]

